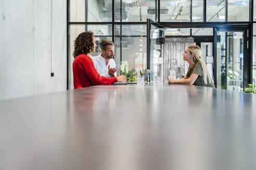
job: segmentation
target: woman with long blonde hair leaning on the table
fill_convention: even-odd
[[[215,88],[208,67],[201,60],[201,50],[198,46],[188,46],[184,51],[183,60],[189,64],[188,72],[183,79],[169,79],[169,83],[190,84]]]

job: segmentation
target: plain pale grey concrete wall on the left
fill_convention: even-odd
[[[54,74],[50,0],[0,1],[0,100],[66,90],[67,2],[53,1]]]

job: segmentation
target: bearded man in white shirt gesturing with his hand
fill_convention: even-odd
[[[100,76],[117,77],[116,62],[114,62],[114,43],[109,39],[100,42],[101,54],[93,56],[93,64]]]

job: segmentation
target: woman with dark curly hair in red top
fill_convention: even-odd
[[[94,67],[93,60],[88,56],[95,52],[96,40],[93,32],[79,34],[74,41],[73,80],[74,88],[85,88],[99,84],[113,84],[117,81],[126,81],[124,75],[118,77],[101,77]]]

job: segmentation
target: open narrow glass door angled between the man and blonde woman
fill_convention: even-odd
[[[164,26],[147,19],[147,69],[150,80],[164,80]]]

